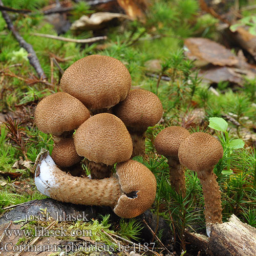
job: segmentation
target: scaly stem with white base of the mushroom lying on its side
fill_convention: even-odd
[[[114,207],[124,195],[117,176],[102,180],[74,177],[62,172],[44,150],[36,161],[35,185],[40,193],[53,199],[85,205]]]

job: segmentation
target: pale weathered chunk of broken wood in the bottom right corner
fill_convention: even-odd
[[[211,226],[209,248],[218,256],[255,256],[256,228],[232,215],[228,222]]]

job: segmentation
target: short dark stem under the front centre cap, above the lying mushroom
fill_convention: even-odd
[[[86,160],[86,164],[90,169],[92,179],[104,179],[109,178],[112,173],[113,165],[106,165],[104,163],[95,163],[93,161]]]

